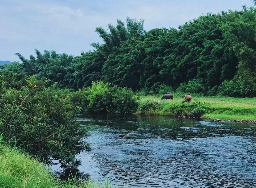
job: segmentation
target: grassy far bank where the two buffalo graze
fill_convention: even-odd
[[[157,115],[200,115],[208,119],[255,120],[256,98],[193,96],[191,104],[182,103],[183,97],[173,95],[173,100],[159,96],[139,96],[137,113]],[[194,104],[194,105],[193,105]],[[192,105],[192,106],[191,106]],[[203,112],[196,113],[196,110]]]

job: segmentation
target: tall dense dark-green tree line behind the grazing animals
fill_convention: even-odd
[[[86,88],[93,81],[157,93],[160,88],[205,95],[256,96],[256,9],[207,13],[175,28],[145,31],[143,20],[127,17],[95,32],[104,44],[70,56],[36,51],[1,73],[36,75],[62,88]]]

